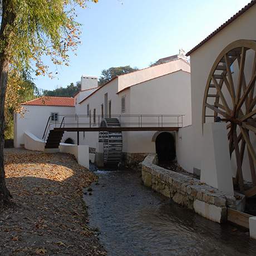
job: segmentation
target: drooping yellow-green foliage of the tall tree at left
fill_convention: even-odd
[[[0,0],[0,61],[8,63],[9,70],[8,83],[0,83],[2,93],[7,88],[4,102],[6,137],[12,134],[13,112],[20,112],[19,105],[38,94],[35,84],[27,77],[29,72],[53,76],[43,60],[68,66],[68,51],[75,51],[80,43],[80,24],[75,21],[75,7],[85,8],[88,1],[97,2]]]

